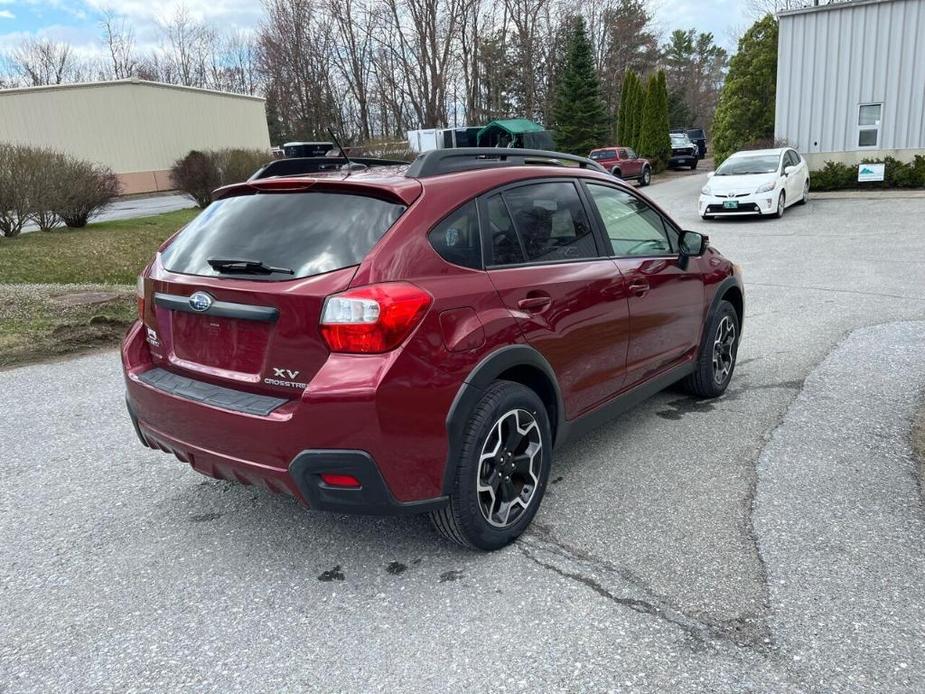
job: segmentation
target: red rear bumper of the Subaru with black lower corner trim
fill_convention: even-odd
[[[337,512],[408,513],[444,503],[446,413],[459,383],[407,352],[342,357],[331,355],[308,389],[274,406],[205,381],[158,376],[172,367],[152,363],[136,324],[122,348],[126,400],[144,445],[210,477]],[[426,388],[418,382],[425,378]],[[409,383],[422,395],[409,398]],[[360,489],[320,486],[320,472],[345,466]]]

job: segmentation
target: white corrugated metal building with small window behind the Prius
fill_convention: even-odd
[[[925,154],[925,0],[780,13],[775,137],[810,168]]]

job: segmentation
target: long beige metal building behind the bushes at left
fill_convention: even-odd
[[[105,164],[124,194],[170,190],[191,149],[270,149],[262,98],[136,79],[0,90],[0,142]]]

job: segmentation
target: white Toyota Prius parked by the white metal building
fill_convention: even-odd
[[[700,191],[704,219],[733,215],[783,217],[809,200],[809,167],[796,150],[759,149],[726,159]]]

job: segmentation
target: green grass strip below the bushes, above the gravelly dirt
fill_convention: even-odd
[[[0,239],[0,282],[134,284],[158,246],[197,212],[178,210]]]

